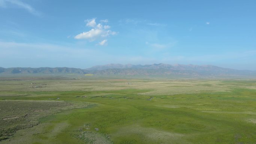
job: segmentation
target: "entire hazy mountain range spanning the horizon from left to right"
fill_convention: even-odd
[[[91,68],[2,68],[0,73],[76,73],[76,74],[99,74],[99,75],[185,75],[185,76],[256,76],[256,71],[234,70],[222,68],[214,65],[170,65],[170,64],[151,64],[151,65],[132,65],[132,64],[107,64],[97,65]]]

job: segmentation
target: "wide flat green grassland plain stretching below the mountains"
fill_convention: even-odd
[[[0,80],[0,143],[256,144],[254,79],[73,77]]]

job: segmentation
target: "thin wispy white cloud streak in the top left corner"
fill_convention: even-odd
[[[13,4],[23,9],[26,9],[28,12],[32,13],[33,15],[40,15],[32,6],[27,3],[24,3],[20,0],[0,0],[0,7],[7,7],[7,4]]]

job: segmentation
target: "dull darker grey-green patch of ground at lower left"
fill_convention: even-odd
[[[0,101],[0,138],[9,138],[19,129],[38,125],[41,117],[86,106],[64,101]]]

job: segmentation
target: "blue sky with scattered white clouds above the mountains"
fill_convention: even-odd
[[[255,0],[0,0],[0,67],[256,70]]]

